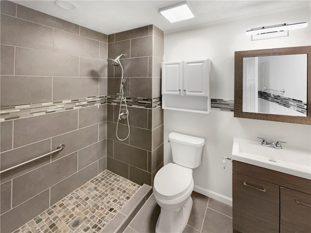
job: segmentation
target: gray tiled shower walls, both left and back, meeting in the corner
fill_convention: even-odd
[[[106,168],[151,185],[163,166],[163,32],[150,25],[105,35],[10,1],[0,3],[0,168],[66,145],[1,174],[0,231],[15,231]],[[115,138],[120,70],[106,62],[107,55],[120,51],[128,54],[121,62],[131,105],[131,135],[125,142]]]

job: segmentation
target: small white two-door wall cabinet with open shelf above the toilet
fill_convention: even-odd
[[[209,59],[162,63],[162,108],[210,112]]]

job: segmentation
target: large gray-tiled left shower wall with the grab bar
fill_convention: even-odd
[[[13,2],[0,3],[0,105],[11,111],[0,124],[0,168],[66,144],[59,153],[1,174],[0,230],[5,233],[106,169],[107,104],[82,100],[106,95],[108,37]],[[60,107],[48,111],[47,102]],[[30,112],[36,108],[43,110]]]

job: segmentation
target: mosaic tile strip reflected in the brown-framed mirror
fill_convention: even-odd
[[[258,97],[263,100],[268,100],[283,107],[293,109],[297,112],[307,114],[307,101],[295,100],[292,98],[274,95],[264,91],[258,91]]]

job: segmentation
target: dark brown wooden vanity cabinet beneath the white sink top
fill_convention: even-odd
[[[311,180],[233,161],[233,232],[311,233]]]

